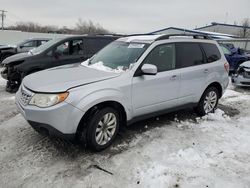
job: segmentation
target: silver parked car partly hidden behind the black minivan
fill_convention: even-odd
[[[36,48],[45,42],[48,42],[49,38],[32,38],[25,40],[17,45],[1,45],[0,46],[0,63],[9,56],[17,53],[28,52],[33,48]]]

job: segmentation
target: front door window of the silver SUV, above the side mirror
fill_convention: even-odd
[[[143,64],[153,64],[158,72],[175,69],[175,45],[163,44],[155,47],[145,58]]]

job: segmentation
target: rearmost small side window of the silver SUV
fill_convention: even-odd
[[[201,43],[202,48],[207,56],[207,62],[211,63],[221,58],[220,51],[215,44]]]

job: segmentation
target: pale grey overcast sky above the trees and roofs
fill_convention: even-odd
[[[250,0],[1,0],[0,9],[8,11],[6,25],[32,21],[74,27],[81,18],[116,33],[240,24],[250,18]]]

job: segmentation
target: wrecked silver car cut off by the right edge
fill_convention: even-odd
[[[232,83],[236,86],[250,86],[250,61],[239,65],[238,70],[231,77]]]

